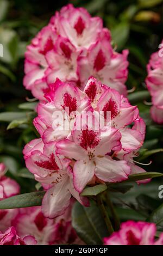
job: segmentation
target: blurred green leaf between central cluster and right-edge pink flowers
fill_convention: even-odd
[[[131,104],[150,99],[150,94],[147,90],[141,90],[140,92],[131,93],[128,95],[128,99]]]

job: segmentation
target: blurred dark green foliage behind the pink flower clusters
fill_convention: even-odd
[[[22,85],[23,56],[30,40],[54,12],[67,3],[85,7],[93,16],[101,16],[105,27],[111,30],[112,46],[116,51],[129,49],[127,87],[129,90],[135,88],[129,99],[139,106],[147,124],[146,142],[140,150],[139,160],[145,163],[152,160],[146,170],[163,172],[162,126],[152,122],[150,106],[144,103],[144,100],[151,100],[145,86],[146,65],[163,38],[162,0],[0,0],[0,43],[4,45],[4,57],[0,57],[0,162],[7,164],[8,175],[20,183],[22,192],[39,190],[33,175],[25,168],[22,156],[24,144],[37,136],[32,125],[36,102],[26,101],[32,99],[32,95]],[[139,190],[134,185],[121,200],[117,199],[118,194],[113,196],[121,220],[128,219],[129,215],[135,220],[148,217],[160,204],[153,198],[158,199],[161,181],[155,179]],[[144,214],[145,202],[149,205]]]

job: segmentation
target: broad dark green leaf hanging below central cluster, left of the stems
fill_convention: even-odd
[[[87,245],[103,245],[103,237],[109,235],[101,211],[92,201],[90,207],[74,204],[72,226]]]

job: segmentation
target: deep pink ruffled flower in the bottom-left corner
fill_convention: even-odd
[[[8,228],[4,233],[0,231],[0,245],[36,245],[37,241],[31,235],[21,239],[14,227]]]

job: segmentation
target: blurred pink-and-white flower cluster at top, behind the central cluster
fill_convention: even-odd
[[[25,54],[26,89],[39,100],[56,78],[83,89],[93,75],[127,95],[128,50],[117,53],[111,47],[110,31],[102,19],[91,17],[72,4],[56,12],[35,36]]]

